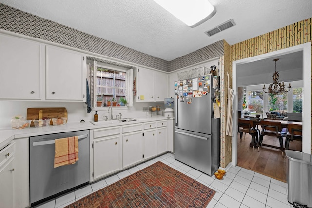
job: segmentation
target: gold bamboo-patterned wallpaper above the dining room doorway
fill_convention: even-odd
[[[285,49],[300,45],[312,40],[312,18],[293,23],[272,32],[231,45],[231,71],[232,62],[243,58]],[[311,50],[312,51],[312,50]],[[225,54],[227,54],[225,52]],[[312,61],[312,54],[311,54]],[[311,64],[312,66],[312,64]],[[312,69],[311,69],[312,71]],[[231,73],[232,74],[232,73]],[[312,115],[312,113],[310,112]],[[312,127],[311,127],[312,128]],[[312,138],[311,138],[312,140]],[[311,142],[312,144],[312,142]],[[311,145],[312,152],[312,145]],[[226,158],[226,161],[227,158]],[[225,163],[227,164],[227,163]]]

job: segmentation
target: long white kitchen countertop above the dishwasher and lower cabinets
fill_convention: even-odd
[[[59,126],[48,126],[48,127],[30,127],[27,129],[2,129],[0,130],[0,150],[8,145],[13,139],[25,138],[30,136],[39,136],[44,134],[52,134],[52,133],[61,133],[61,132],[73,132],[80,131],[86,129],[98,129],[103,127],[112,127],[112,126],[121,126],[121,125],[129,125],[143,122],[152,122],[158,120],[167,120],[166,117],[157,115],[151,117],[142,117],[135,118],[136,121],[129,122],[119,122],[119,123],[109,123],[103,125],[93,125],[90,121],[85,121],[83,123],[75,122],[75,123],[67,123],[65,125]]]

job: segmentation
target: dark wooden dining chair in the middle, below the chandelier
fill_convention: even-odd
[[[276,146],[269,145],[269,144],[262,144],[263,136],[276,136],[279,139],[280,149],[282,151],[282,156],[284,157],[284,145],[283,145],[283,134],[281,133],[282,124],[279,121],[268,121],[268,120],[261,120],[260,125],[262,128],[260,138],[259,138],[259,146],[268,146],[272,148],[277,148]]]

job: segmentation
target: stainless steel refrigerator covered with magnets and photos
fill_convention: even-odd
[[[176,81],[175,93],[175,159],[212,175],[220,165],[219,77]]]

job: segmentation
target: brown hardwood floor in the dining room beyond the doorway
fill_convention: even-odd
[[[251,135],[246,133],[246,138],[242,138],[237,134],[237,166],[253,170],[263,175],[272,177],[276,180],[287,182],[286,173],[288,169],[288,159],[282,157],[279,149],[262,146],[259,151],[249,147]],[[263,143],[279,146],[279,140],[275,137],[264,136]],[[283,138],[285,145],[285,138]],[[301,141],[290,142],[289,149],[301,151]]]

